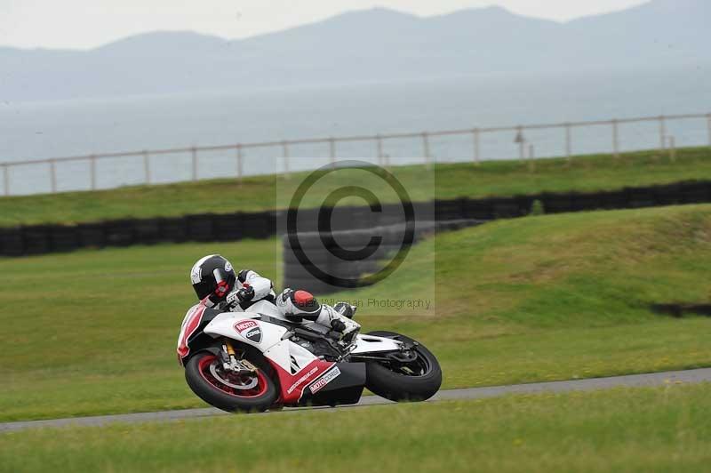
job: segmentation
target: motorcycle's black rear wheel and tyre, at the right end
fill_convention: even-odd
[[[435,396],[442,386],[442,369],[437,358],[424,345],[394,332],[368,335],[417,343],[416,359],[408,364],[370,362],[366,367],[365,387],[391,401],[424,401]]]

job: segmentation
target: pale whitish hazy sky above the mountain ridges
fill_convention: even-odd
[[[621,10],[645,0],[0,0],[0,44],[92,48],[123,36],[190,29],[226,38],[252,36],[385,6],[428,16],[499,4],[553,20]]]

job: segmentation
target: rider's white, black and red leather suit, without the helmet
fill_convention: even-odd
[[[358,323],[331,306],[318,303],[311,293],[285,289],[277,296],[274,285],[269,279],[261,277],[252,270],[240,271],[235,291],[228,294],[228,306],[232,311],[241,312],[256,301],[274,302],[288,320],[299,323],[305,320],[315,322],[329,330],[341,333],[341,338],[344,340],[352,340],[361,328]]]

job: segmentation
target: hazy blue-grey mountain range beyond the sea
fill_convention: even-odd
[[[711,1],[652,0],[567,23],[499,7],[420,18],[376,8],[228,41],[132,36],[91,51],[0,47],[0,101],[711,62]]]

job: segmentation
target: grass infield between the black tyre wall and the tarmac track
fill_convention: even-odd
[[[203,405],[174,347],[188,269],[215,252],[279,285],[276,240],[0,260],[0,420]],[[364,330],[424,342],[444,388],[552,381],[711,366],[711,320],[649,309],[707,301],[709,264],[711,205],[583,212],[441,235],[383,286],[335,297],[364,301]],[[434,309],[368,307],[386,290]]]

